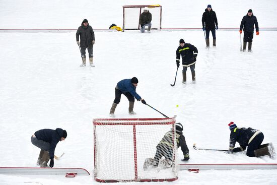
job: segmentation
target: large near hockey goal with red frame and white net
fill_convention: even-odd
[[[94,178],[99,182],[178,179],[175,116],[172,118],[93,119]],[[153,163],[157,145],[166,153]],[[170,146],[171,148],[169,149]],[[149,162],[151,159],[151,163]]]

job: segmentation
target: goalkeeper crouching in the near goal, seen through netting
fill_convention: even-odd
[[[181,146],[184,158],[181,159],[182,161],[189,160],[189,150],[186,145],[185,137],[182,133],[183,126],[180,122],[177,122],[175,125],[175,134],[176,134],[176,142],[177,148]],[[163,168],[172,167],[172,153],[173,153],[173,144],[172,144],[172,130],[168,131],[163,139],[157,145],[157,150],[154,159],[147,158],[144,163],[144,170],[147,170],[149,166],[153,165],[153,167],[157,167],[159,164],[163,166]],[[165,157],[165,160],[162,157]]]

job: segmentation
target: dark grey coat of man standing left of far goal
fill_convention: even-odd
[[[76,41],[79,41],[80,35],[80,47],[82,48],[92,48],[93,44],[92,41],[95,40],[94,38],[94,31],[92,27],[88,24],[88,26],[84,26],[83,23],[78,28],[76,32]]]

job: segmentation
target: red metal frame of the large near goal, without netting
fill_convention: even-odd
[[[96,118],[93,119],[93,127],[94,131],[96,126],[107,126],[107,125],[128,125],[133,126],[133,150],[134,150],[134,178],[128,180],[117,180],[117,179],[99,179],[94,174],[94,179],[98,182],[119,182],[119,181],[139,181],[139,182],[150,182],[150,181],[174,181],[176,178],[158,178],[158,179],[138,179],[137,175],[137,151],[136,151],[136,126],[139,125],[172,125],[173,131],[173,140],[175,139],[175,117],[171,118]],[[155,121],[157,120],[157,121]],[[159,122],[164,121],[164,122]],[[173,141],[174,142],[174,141]],[[97,147],[96,147],[96,136],[94,132],[94,169],[96,171],[96,155],[97,155]]]

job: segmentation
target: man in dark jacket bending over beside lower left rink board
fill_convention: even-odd
[[[65,130],[57,128],[56,130],[52,129],[42,129],[31,137],[31,142],[36,147],[40,148],[39,157],[37,160],[37,165],[40,167],[47,168],[54,166],[54,152],[56,145],[59,141],[63,141],[67,137]],[[50,164],[47,166],[47,163],[50,159]]]

